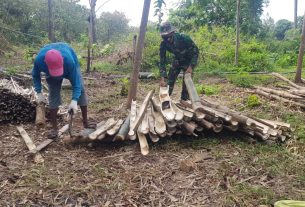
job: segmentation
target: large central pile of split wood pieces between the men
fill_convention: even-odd
[[[173,135],[192,135],[205,131],[240,131],[266,142],[283,142],[290,138],[290,125],[278,121],[255,119],[215,104],[201,100],[191,77],[185,77],[191,102],[175,102],[168,96],[167,88],[160,88],[159,97],[150,91],[140,107],[132,102],[130,114],[125,120],[113,118],[100,122],[96,130],[86,129],[67,143],[99,141],[105,138],[118,140],[138,139],[143,155],[148,154],[147,138],[158,142]],[[246,136],[247,137],[247,136]]]

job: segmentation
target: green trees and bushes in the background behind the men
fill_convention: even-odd
[[[72,44],[85,64],[81,57],[86,56],[90,11],[78,2],[53,0],[54,34],[56,41]],[[238,65],[234,65],[236,0],[181,0],[177,9],[170,11],[169,20],[180,32],[189,34],[200,48],[196,71],[287,70],[297,62],[303,17],[298,17],[295,28],[293,22],[285,19],[262,20],[267,4],[268,0],[241,0]],[[92,63],[95,69],[130,70],[129,54],[138,30],[128,23],[121,12],[103,12],[97,17],[97,44],[93,45],[96,58]],[[142,65],[145,71],[158,70],[161,41],[158,24],[150,22],[148,26]],[[13,47],[35,51],[48,43],[48,0],[2,0],[0,41],[2,57],[11,54]],[[127,61],[121,61],[122,58]]]

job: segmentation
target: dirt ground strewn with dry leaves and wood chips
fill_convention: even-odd
[[[98,74],[87,80],[90,119],[125,117],[126,97],[120,80]],[[305,119],[304,112],[264,100],[248,109],[247,89],[223,78],[206,78],[221,92],[211,98],[243,113],[282,120],[287,114]],[[157,81],[141,81],[138,97],[157,89]],[[175,88],[178,98],[181,83]],[[68,103],[71,91],[63,97]],[[81,126],[80,113],[77,115]],[[303,122],[304,123],[304,122]],[[65,124],[64,121],[60,123]],[[47,127],[25,124],[37,144]],[[58,140],[34,164],[15,125],[0,126],[0,206],[272,206],[281,199],[305,200],[305,138],[284,144],[249,143],[244,134],[204,132],[199,137],[162,138],[149,143],[142,156],[137,141],[65,145]],[[190,170],[181,165],[200,157]]]

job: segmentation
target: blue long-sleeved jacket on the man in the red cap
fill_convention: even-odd
[[[46,74],[46,78],[53,78],[50,76],[48,67],[44,62],[46,52],[56,49],[64,58],[64,73],[60,78],[66,78],[71,82],[73,93],[72,100],[78,101],[82,89],[82,76],[80,66],[74,50],[66,43],[58,42],[45,45],[37,54],[34,67],[32,70],[32,77],[34,88],[37,93],[41,93],[41,76],[40,73]],[[56,77],[57,78],[57,77]]]

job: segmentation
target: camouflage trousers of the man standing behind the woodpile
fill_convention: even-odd
[[[173,89],[175,86],[175,82],[177,80],[178,75],[181,71],[183,71],[183,83],[182,83],[182,92],[181,92],[181,100],[189,100],[189,94],[186,89],[186,85],[184,83],[184,75],[185,71],[189,67],[187,63],[179,63],[178,61],[174,61],[172,67],[168,73],[167,85],[169,86],[169,95],[173,93]]]

